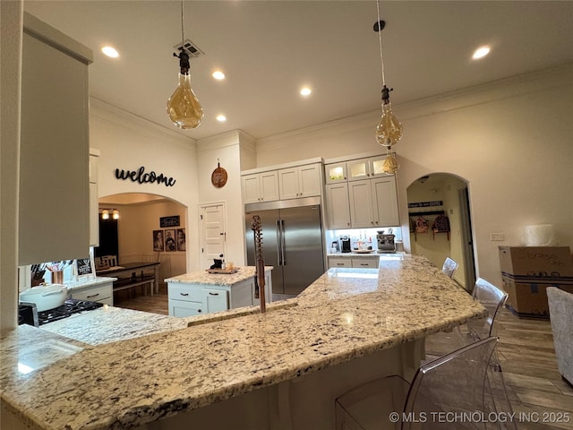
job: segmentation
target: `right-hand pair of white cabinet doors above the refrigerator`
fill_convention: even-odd
[[[321,165],[311,164],[278,170],[280,200],[321,195]]]

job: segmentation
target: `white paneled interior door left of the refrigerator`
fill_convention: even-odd
[[[225,203],[201,205],[201,268],[209,269],[213,259],[226,254]]]

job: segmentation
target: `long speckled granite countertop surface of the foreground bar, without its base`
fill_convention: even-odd
[[[484,314],[427,259],[384,259],[380,269],[330,269],[295,305],[266,314],[83,348],[26,383],[10,346],[41,329],[4,333],[2,400],[32,428],[134,428]]]

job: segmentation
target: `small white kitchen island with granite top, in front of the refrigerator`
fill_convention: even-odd
[[[265,266],[265,300],[272,300],[272,267]],[[254,297],[254,267],[238,267],[235,273],[195,271],[165,280],[169,315],[193,316],[257,305]]]

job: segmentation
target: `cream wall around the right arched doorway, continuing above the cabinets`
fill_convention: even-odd
[[[521,245],[527,224],[553,224],[558,243],[573,246],[573,64],[394,110],[404,125],[396,146],[403,228],[406,187],[446,172],[468,181],[478,276],[500,285],[497,247]],[[376,150],[378,117],[374,112],[262,139],[257,167]],[[506,240],[490,241],[492,232]]]

